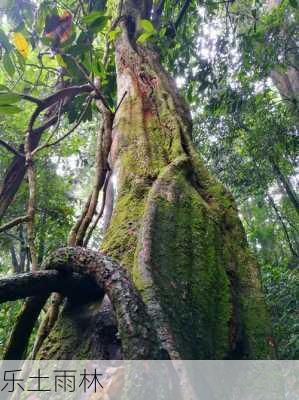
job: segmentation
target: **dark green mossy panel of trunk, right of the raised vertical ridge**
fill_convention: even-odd
[[[182,173],[174,198],[158,203],[153,232],[154,281],[184,358],[223,358],[229,349],[229,282],[221,232]]]

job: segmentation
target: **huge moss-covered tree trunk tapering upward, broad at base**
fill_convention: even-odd
[[[259,271],[235,203],[196,154],[190,111],[157,52],[136,44],[134,26],[149,14],[146,1],[135,3],[124,4],[130,18],[116,42],[119,101],[126,95],[113,124],[115,199],[101,251],[129,270],[172,358],[271,357]],[[39,356],[115,357],[103,351],[102,316],[99,303],[68,304]]]

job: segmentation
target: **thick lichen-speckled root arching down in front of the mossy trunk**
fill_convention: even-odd
[[[95,280],[115,310],[126,359],[168,358],[128,272],[110,257],[82,247],[66,247],[54,252],[44,267],[65,274],[88,274]]]

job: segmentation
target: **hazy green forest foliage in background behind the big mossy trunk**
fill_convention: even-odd
[[[103,1],[95,3],[99,9],[104,8]],[[238,202],[248,241],[259,260],[278,355],[295,359],[299,357],[299,95],[282,91],[271,76],[273,71],[285,74],[290,67],[298,72],[299,8],[296,0],[276,3],[273,7],[271,2],[247,0],[166,0],[160,28],[149,32],[144,40],[159,42],[165,68],[191,104],[198,151]],[[38,55],[43,48],[39,39],[46,15],[53,13],[55,7],[57,12],[73,11],[75,2],[1,0],[0,4],[1,91],[8,87],[19,93],[30,89],[36,96],[51,93],[61,60],[47,54],[43,57],[45,66],[41,66]],[[88,4],[82,4],[87,10]],[[180,20],[180,11],[186,4],[188,12]],[[92,55],[96,60],[103,55],[101,35],[108,31],[108,17],[92,28],[94,40],[98,41]],[[65,51],[76,49],[81,57],[80,49],[86,45],[82,45],[79,28],[74,19],[74,35]],[[85,39],[90,29],[89,26]],[[30,43],[30,54],[25,59],[16,49],[7,49],[5,37],[12,31],[22,32]],[[95,68],[84,57],[86,70]],[[68,71],[68,79],[80,83],[80,73],[71,58],[65,58],[63,68]],[[96,69],[97,74],[102,74],[111,104],[115,103],[113,59],[105,71],[100,62]],[[76,120],[83,104],[83,98],[76,99],[75,106],[62,119],[60,135]],[[0,96],[0,138],[15,147],[23,142],[32,106],[24,103],[20,110],[16,118],[15,112],[1,107]],[[79,214],[93,174],[96,129],[91,108],[83,124],[67,140],[38,157],[36,247],[40,261],[65,244]],[[1,177],[10,160],[11,154],[0,146]],[[1,222],[24,215],[26,199],[25,181]],[[91,245],[98,246],[100,238],[98,227]],[[22,225],[0,234],[1,274],[29,268]],[[20,307],[21,302],[1,305],[0,354]]]

